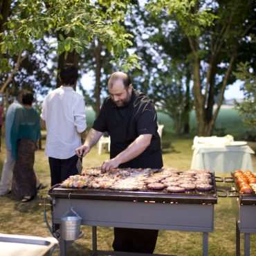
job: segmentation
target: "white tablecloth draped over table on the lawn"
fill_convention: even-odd
[[[196,144],[193,149],[191,169],[209,169],[211,172],[254,171],[250,154],[255,152],[248,145]]]

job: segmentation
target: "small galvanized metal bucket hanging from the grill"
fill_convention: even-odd
[[[80,225],[82,218],[78,216],[62,217],[62,237],[66,241],[74,241],[78,239],[80,234]]]

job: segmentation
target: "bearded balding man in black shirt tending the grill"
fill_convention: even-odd
[[[110,160],[102,163],[102,172],[116,167],[163,167],[156,110],[151,100],[136,91],[129,76],[122,72],[110,76],[108,90],[110,96],[104,100],[84,145],[76,149],[77,156],[89,153],[107,131],[111,138]],[[153,253],[157,237],[158,230],[114,228],[113,249]]]

